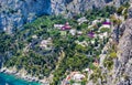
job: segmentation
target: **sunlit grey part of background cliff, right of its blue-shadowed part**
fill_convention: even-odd
[[[109,0],[111,1],[111,0]],[[52,0],[52,12],[58,13],[80,13],[88,9],[101,8],[108,0]]]

